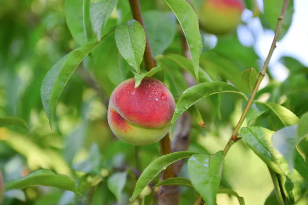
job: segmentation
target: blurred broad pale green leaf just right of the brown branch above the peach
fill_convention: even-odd
[[[153,56],[162,54],[176,35],[175,15],[172,12],[147,11],[143,14],[143,21]]]

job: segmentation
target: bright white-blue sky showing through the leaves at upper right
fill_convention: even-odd
[[[262,10],[262,0],[258,3]],[[308,66],[308,0],[294,0],[294,10],[292,24],[286,35],[277,42],[277,48],[269,64],[269,72],[279,81],[283,81],[288,75],[288,70],[278,63],[280,57],[291,56],[299,60],[303,65]],[[242,16],[243,20],[249,18],[249,15],[252,15],[252,12],[245,11]],[[247,25],[249,29],[244,26],[238,28],[241,43],[249,46],[253,45],[256,40],[256,53],[262,60],[265,60],[273,42],[274,31],[263,30],[258,18],[249,20]],[[253,36],[255,36],[255,39]]]

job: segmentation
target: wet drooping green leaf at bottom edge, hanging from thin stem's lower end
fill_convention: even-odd
[[[222,151],[214,155],[196,154],[188,159],[188,176],[207,205],[216,204],[223,160]]]

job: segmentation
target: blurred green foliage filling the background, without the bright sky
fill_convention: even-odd
[[[160,148],[159,144],[141,147],[136,161],[135,148],[119,141],[109,129],[108,97],[121,81],[133,76],[115,47],[114,36],[95,47],[68,80],[52,119],[52,130],[42,106],[40,89],[44,76],[57,60],[79,46],[68,29],[64,5],[64,0],[0,0],[0,117],[21,118],[30,128],[0,126],[0,174],[6,183],[35,170],[52,170],[74,179],[83,196],[39,186],[6,191],[3,203],[128,204],[136,184],[136,167],[143,171],[160,156]],[[141,5],[156,57],[183,55],[182,32],[170,9],[160,0],[142,0]],[[266,5],[266,9],[268,6],[271,5]],[[283,34],[291,24],[292,13],[293,6],[288,10]],[[275,12],[261,14],[263,27],[272,28],[273,18],[277,17]],[[119,0],[102,35],[131,18],[128,1]],[[90,34],[94,36],[94,32]],[[202,31],[201,34],[204,47],[200,67],[209,78],[232,83],[242,90],[241,72],[251,67],[261,70],[261,60],[253,46],[243,46],[236,33],[217,37],[214,47],[210,47],[213,38]],[[112,61],[115,58],[117,62]],[[269,75],[268,85],[258,92],[257,100],[280,104],[300,118],[308,112],[308,68],[291,57],[285,56],[280,61],[290,75],[283,82]],[[180,97],[188,88],[182,75],[187,69],[172,60],[163,61],[162,65],[165,70],[154,76],[163,80],[176,98]],[[144,62],[141,69],[145,70]],[[246,103],[243,97],[232,93],[219,94],[220,103],[215,100],[218,99],[206,98],[196,104],[205,128],[199,125],[200,120],[193,122],[190,151],[214,154],[223,150]],[[254,104],[252,109],[247,119],[249,125],[272,131],[288,126],[279,121],[279,116],[288,118],[284,112],[277,115],[275,109],[268,109],[262,103]],[[173,134],[171,129],[171,137]],[[305,142],[304,139],[300,144],[300,153],[307,162]],[[186,163],[180,176],[188,178]],[[158,181],[159,177],[153,180]],[[238,141],[226,156],[221,185],[236,191],[249,205],[264,204],[265,200],[266,204],[277,203],[268,168],[244,140]],[[0,178],[0,192],[1,186]],[[194,189],[181,187],[180,204],[193,204],[197,197]],[[142,204],[150,204],[150,189],[143,190],[140,198]],[[217,204],[238,204],[238,201],[235,196],[219,194]]]

